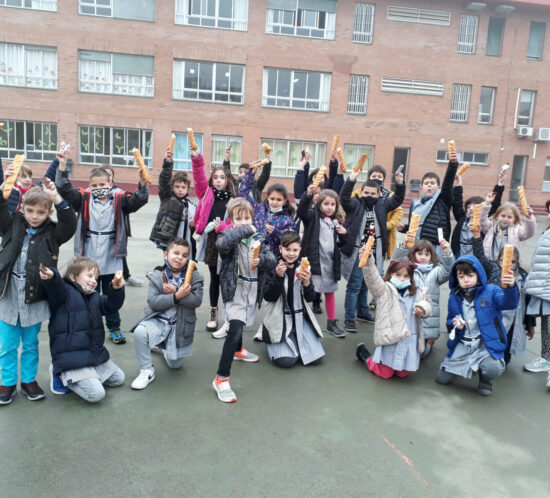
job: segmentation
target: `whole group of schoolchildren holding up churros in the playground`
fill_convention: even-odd
[[[356,320],[374,323],[374,353],[359,344],[357,358],[379,377],[405,377],[419,369],[440,335],[440,287],[447,281],[448,353],[437,382],[478,374],[478,393],[492,394],[493,379],[504,372],[511,355],[523,354],[538,316],[542,354],[525,368],[550,372],[550,279],[545,266],[550,230],[541,237],[527,273],[520,265],[520,242],[535,234],[536,221],[532,210],[522,218],[514,204],[501,204],[503,172],[485,201],[472,197],[463,205],[458,160],[451,152],[443,183],[435,173],[424,175],[421,197],[413,201],[404,225],[400,172],[395,174],[395,192],[384,188],[381,166],[371,168],[356,190],[359,172],[344,179],[336,154],[331,154],[325,175],[309,171],[304,152],[294,184],[299,199],[295,211],[282,184],[270,185],[262,200],[271,170],[269,150],[259,178],[254,164],[241,165],[234,178],[229,154],[228,149],[224,164],[207,176],[202,154],[191,151],[195,203],[189,198],[190,178],[174,172],[170,149],[165,153],[160,208],[150,236],[164,262],[147,275],[147,308],[131,330],[139,365],[133,389],[144,389],[155,379],[152,352],[161,353],[169,368],[180,368],[192,354],[204,284],[193,271],[196,261],[204,262],[210,273],[206,329],[225,339],[212,381],[223,402],[237,399],[230,386],[232,362],[259,361],[242,341],[256,309],[264,307],[256,339],[266,344],[268,357],[279,367],[321,362],[323,332],[315,315],[321,313],[324,297],[329,333],[343,338],[346,332],[357,332]],[[44,320],[49,320],[52,392],[73,391],[96,402],[105,395],[103,386],[125,380],[104,346],[102,316],[109,338],[123,344],[119,310],[129,215],[147,203],[149,193],[141,173],[132,193],[114,188],[109,170],[93,169],[89,187],[74,188],[67,152],[60,151],[44,184],[32,187],[23,169],[18,193],[9,200],[0,198],[0,404],[9,404],[16,393],[21,343],[21,391],[31,400],[44,397],[36,382],[38,332]],[[5,175],[12,174],[9,166]],[[473,206],[481,203],[480,224],[474,226]],[[49,217],[52,204],[57,223]],[[550,201],[546,207],[550,211]],[[457,221],[452,233],[451,210]],[[413,214],[419,218],[417,230],[409,230]],[[405,233],[399,246],[396,230]],[[59,246],[73,235],[75,258],[61,277],[56,269]],[[374,242],[368,254],[367,241]],[[512,269],[503,274],[507,244],[516,253]],[[344,330],[335,306],[342,277],[347,281]],[[376,319],[367,301],[369,289]],[[218,312],[220,292],[223,313]],[[225,320],[218,329],[222,314]]]

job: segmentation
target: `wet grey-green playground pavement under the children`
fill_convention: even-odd
[[[152,197],[132,217],[129,263],[139,278],[162,262],[148,240],[157,208]],[[537,237],[546,225],[540,218]],[[535,244],[528,242],[526,261]],[[62,248],[62,264],[71,252],[72,243]],[[203,264],[199,271],[207,284]],[[342,283],[341,320],[344,290]],[[125,329],[138,321],[146,293],[146,286],[127,288]],[[261,361],[234,364],[238,402],[225,405],[211,385],[223,341],[204,332],[207,296],[205,286],[193,356],[179,371],[155,356],[147,389],[130,389],[138,367],[128,334],[126,345],[108,344],[126,383],[102,402],[47,389],[44,401],[18,394],[0,407],[0,496],[550,496],[550,393],[545,374],[522,370],[540,354],[538,335],[495,381],[494,395],[482,398],[477,379],[434,382],[446,334],[419,372],[382,380],[354,355],[358,342],[372,348],[372,325],[345,339],[327,335],[321,365],[290,370],[269,363],[265,346],[252,341],[254,327],[244,344]],[[47,388],[45,329],[40,355],[38,381]]]

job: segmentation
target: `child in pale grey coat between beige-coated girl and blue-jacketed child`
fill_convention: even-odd
[[[451,246],[446,240],[442,240],[441,257],[438,257],[431,242],[417,240],[411,249],[406,247],[408,242],[414,242],[411,234],[405,235],[405,242],[393,253],[393,259],[407,258],[414,263],[414,281],[417,288],[425,289],[432,303],[432,313],[422,319],[424,339],[426,341],[422,358],[426,358],[439,338],[439,297],[441,286],[449,280],[449,273],[454,263]]]

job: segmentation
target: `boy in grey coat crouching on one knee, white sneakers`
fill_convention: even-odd
[[[139,375],[132,389],[145,389],[155,380],[152,348],[162,350],[169,368],[181,368],[191,356],[197,308],[202,302],[203,278],[189,257],[189,242],[171,239],[164,251],[164,265],[149,278],[148,307],[134,327],[134,346]]]

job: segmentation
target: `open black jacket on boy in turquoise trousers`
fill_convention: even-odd
[[[71,206],[57,210],[57,223],[50,218],[37,228],[32,236],[27,252],[25,267],[25,303],[32,304],[46,299],[40,286],[40,263],[55,268],[59,255],[59,246],[67,242],[76,230],[76,215]],[[9,285],[11,271],[27,234],[27,224],[21,212],[9,214],[8,201],[0,195],[0,299]]]

